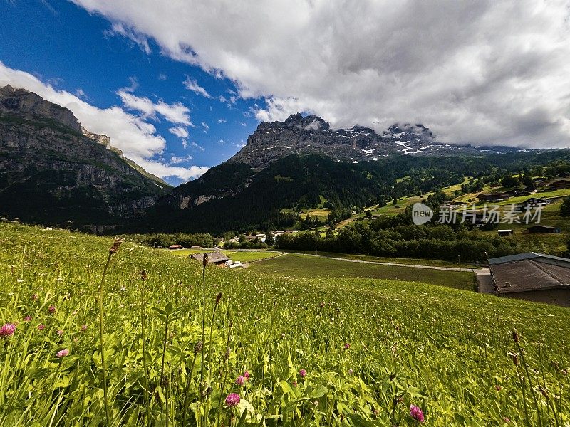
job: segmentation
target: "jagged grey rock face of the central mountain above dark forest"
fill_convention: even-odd
[[[332,130],[321,117],[291,115],[284,122],[261,122],[247,144],[229,162],[263,169],[289,154],[324,154],[339,162],[359,162],[398,154],[367,127]]]

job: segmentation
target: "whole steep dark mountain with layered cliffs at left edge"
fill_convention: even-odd
[[[35,93],[0,88],[0,214],[92,230],[139,218],[170,190],[105,135]]]

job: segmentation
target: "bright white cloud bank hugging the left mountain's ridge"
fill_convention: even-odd
[[[120,107],[98,108],[81,100],[76,95],[57,90],[53,86],[21,70],[14,70],[0,62],[0,86],[12,85],[37,93],[44,99],[67,107],[78,118],[81,125],[90,132],[108,135],[113,147],[117,147],[125,157],[145,168],[151,174],[162,178],[177,176],[192,179],[204,173],[203,167],[170,167],[151,158],[164,151],[166,141],[157,135],[156,128],[140,117],[125,112]]]

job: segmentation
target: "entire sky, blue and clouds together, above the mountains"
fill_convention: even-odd
[[[570,147],[569,57],[570,0],[0,0],[0,84],[172,184],[295,112]]]

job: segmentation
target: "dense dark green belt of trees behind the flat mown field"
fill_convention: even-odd
[[[454,261],[484,261],[519,252],[516,243],[498,236],[487,236],[462,225],[455,229],[440,224],[415,226],[403,215],[359,221],[336,236],[327,233],[326,238],[311,232],[284,234],[276,238],[276,248]]]

